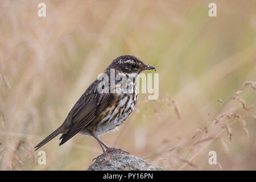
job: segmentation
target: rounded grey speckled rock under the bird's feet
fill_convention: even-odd
[[[115,150],[98,156],[96,161],[90,165],[88,171],[162,171],[163,169],[152,166],[138,156]]]

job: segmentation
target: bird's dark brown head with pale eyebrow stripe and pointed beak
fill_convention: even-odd
[[[155,69],[154,67],[144,64],[135,56],[119,56],[112,61],[108,68],[117,69],[123,73],[141,73],[144,70]]]

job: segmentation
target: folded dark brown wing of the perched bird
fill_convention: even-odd
[[[67,142],[75,134],[84,129],[96,116],[114,101],[112,93],[98,93],[98,80],[94,81],[76,102],[69,114],[72,119],[71,127],[61,136],[60,145]],[[60,139],[61,139],[60,138]]]

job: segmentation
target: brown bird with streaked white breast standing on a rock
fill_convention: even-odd
[[[138,98],[136,78],[142,71],[151,69],[156,70],[135,56],[123,55],[115,58],[102,74],[105,79],[97,78],[92,82],[69,111],[63,124],[38,143],[34,147],[35,151],[59,134],[61,146],[77,133],[95,138],[103,152],[119,150],[109,147],[100,136],[116,129],[131,114]],[[112,81],[112,73],[121,78]],[[112,81],[113,85],[106,80]]]

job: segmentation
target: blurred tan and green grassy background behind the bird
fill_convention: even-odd
[[[255,1],[1,0],[0,169],[87,169],[93,138],[56,137],[46,165],[33,148],[115,57],[135,55],[159,73],[159,98],[139,94],[104,142],[164,170],[255,170],[255,32]]]

